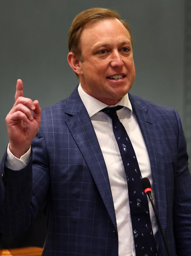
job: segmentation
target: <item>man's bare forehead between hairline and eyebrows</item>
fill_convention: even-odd
[[[111,43],[111,39],[112,42],[121,40],[130,42],[129,32],[118,19],[103,19],[88,23],[81,33],[82,47]]]

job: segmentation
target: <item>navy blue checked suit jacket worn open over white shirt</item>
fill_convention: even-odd
[[[170,255],[191,255],[191,177],[175,110],[129,94],[148,150],[155,204]],[[46,256],[118,255],[115,210],[102,152],[78,90],[42,111],[29,164],[1,161],[0,232],[29,229],[46,202]],[[128,234],[127,234],[128,236]],[[125,239],[125,237],[124,237]],[[160,234],[160,255],[166,255]]]

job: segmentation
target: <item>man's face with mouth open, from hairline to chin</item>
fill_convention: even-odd
[[[135,78],[129,32],[118,19],[89,23],[81,34],[81,49],[82,88],[101,102],[115,105]]]

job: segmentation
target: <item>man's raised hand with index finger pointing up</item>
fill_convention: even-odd
[[[31,114],[31,111],[33,114]],[[23,82],[17,80],[15,104],[6,116],[11,153],[20,158],[31,145],[41,123],[41,108],[38,100],[23,97]]]

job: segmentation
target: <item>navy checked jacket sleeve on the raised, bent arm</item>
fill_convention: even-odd
[[[0,164],[0,232],[16,235],[31,228],[38,211],[47,199],[49,167],[46,145],[39,129],[33,140],[28,165],[19,171],[5,166],[6,152]]]

